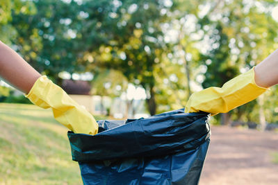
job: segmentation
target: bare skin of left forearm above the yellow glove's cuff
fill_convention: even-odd
[[[41,75],[6,44],[0,42],[0,76],[24,93],[28,93]]]

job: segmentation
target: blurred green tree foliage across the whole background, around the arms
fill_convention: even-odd
[[[58,73],[94,73],[94,94],[143,87],[151,114],[186,105],[195,87],[222,86],[277,45],[273,1],[5,1],[0,39],[60,84]],[[262,8],[263,7],[263,10]],[[122,73],[122,76],[114,72]],[[117,77],[115,77],[117,76]],[[111,84],[106,89],[104,84]],[[276,88],[231,118],[277,122]],[[266,98],[267,97],[267,98]],[[275,111],[276,109],[276,111]]]

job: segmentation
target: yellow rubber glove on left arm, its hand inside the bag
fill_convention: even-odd
[[[38,78],[26,97],[39,107],[51,108],[54,118],[72,132],[97,134],[98,125],[95,118],[47,76]]]

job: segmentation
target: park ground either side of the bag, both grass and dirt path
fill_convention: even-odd
[[[0,185],[82,184],[67,128],[51,111],[1,103],[0,130]],[[231,127],[211,132],[200,185],[278,184],[277,133]]]

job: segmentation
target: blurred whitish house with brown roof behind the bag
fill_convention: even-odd
[[[80,105],[92,114],[105,114],[114,118],[148,117],[145,113],[145,100],[131,98],[110,98],[90,95],[90,83],[85,80],[63,80],[62,88]]]

